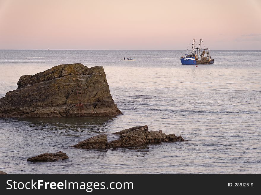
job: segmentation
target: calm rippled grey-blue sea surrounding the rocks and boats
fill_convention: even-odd
[[[211,51],[213,65],[181,65],[183,51],[0,50],[0,98],[21,75],[59,64],[103,66],[116,117],[1,118],[8,174],[261,174],[261,51]],[[123,57],[136,62],[122,62]],[[133,126],[187,142],[109,150],[70,145]],[[44,152],[68,160],[27,162]]]

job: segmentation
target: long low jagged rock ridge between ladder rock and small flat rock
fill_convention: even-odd
[[[161,130],[148,131],[147,125],[125,129],[113,134],[119,135],[119,139],[107,142],[107,136],[105,134],[101,134],[81,141],[72,147],[80,149],[107,149],[168,141],[187,141],[184,140],[182,136],[177,137],[175,134],[166,135],[165,133],[162,133]]]

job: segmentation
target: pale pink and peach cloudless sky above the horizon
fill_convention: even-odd
[[[261,50],[261,0],[0,0],[0,49]]]

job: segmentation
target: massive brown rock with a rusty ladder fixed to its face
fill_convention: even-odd
[[[0,117],[79,116],[79,106],[82,108],[78,105],[79,81],[84,116],[121,114],[110,94],[103,67],[66,64],[33,76],[21,76],[18,88],[0,99]],[[81,95],[79,98],[81,100]],[[83,115],[82,109],[80,115]]]

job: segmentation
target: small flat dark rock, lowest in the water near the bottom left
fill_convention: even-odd
[[[61,151],[55,153],[43,153],[32,158],[27,158],[26,161],[31,162],[54,162],[69,158],[66,153]]]

